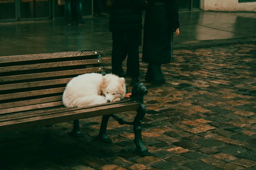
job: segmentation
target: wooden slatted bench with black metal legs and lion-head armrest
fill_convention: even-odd
[[[0,132],[74,121],[70,135],[82,137],[79,119],[103,116],[98,140],[111,141],[106,135],[109,117],[120,124],[133,125],[135,152],[150,155],[143,144],[141,123],[145,115],[143,83],[133,86],[130,98],[90,107],[66,108],[62,94],[66,84],[84,73],[105,74],[97,51],[71,51],[0,57]],[[115,113],[137,111],[133,122]]]

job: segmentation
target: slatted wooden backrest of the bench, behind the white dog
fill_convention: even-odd
[[[104,74],[97,51],[0,57],[0,114],[63,107],[66,84],[92,72]]]

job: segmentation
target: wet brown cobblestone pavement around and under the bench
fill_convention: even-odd
[[[256,169],[256,45],[175,50],[166,83],[146,85],[143,141],[151,156],[132,152],[132,127],[110,119],[112,143],[94,140],[101,117],[0,134],[0,169],[142,170]],[[111,70],[111,57],[103,56]],[[126,78],[130,84],[131,78]],[[129,91],[131,86],[129,85]],[[119,114],[127,121],[135,112]]]

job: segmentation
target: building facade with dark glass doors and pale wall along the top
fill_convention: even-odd
[[[102,0],[104,4],[105,0]],[[179,11],[256,11],[256,0],[178,0]],[[83,0],[83,17],[92,17],[93,0]],[[58,0],[0,0],[0,23],[57,20],[65,17]]]

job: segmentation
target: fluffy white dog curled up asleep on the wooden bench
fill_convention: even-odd
[[[81,74],[67,84],[62,102],[66,107],[84,107],[118,101],[125,96],[125,86],[124,78],[114,74]]]

